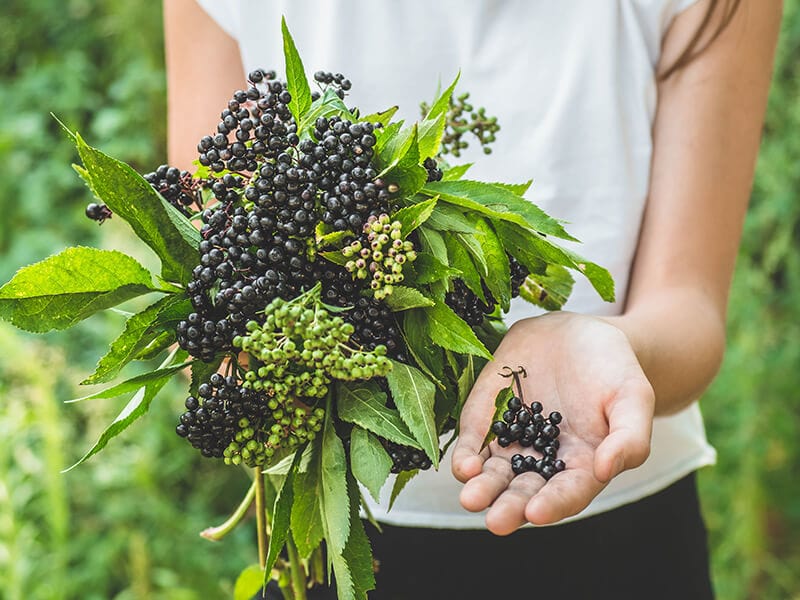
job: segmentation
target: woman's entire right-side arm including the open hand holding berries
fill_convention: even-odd
[[[660,71],[705,8],[700,2],[676,18]],[[465,508],[491,506],[491,531],[508,534],[583,510],[611,478],[645,461],[654,413],[680,410],[711,382],[780,18],[780,0],[743,0],[717,41],[660,84],[651,187],[624,313],[520,321],[478,378],[462,412],[453,473],[466,482]],[[565,415],[560,454],[568,469],[546,484],[535,474],[514,477],[512,452],[494,443],[480,450],[495,394],[506,385],[496,374],[503,364],[533,365],[528,400],[539,396]]]

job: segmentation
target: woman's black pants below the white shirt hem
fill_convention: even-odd
[[[388,525],[383,534],[367,529],[380,561],[370,600],[713,598],[693,474],[639,502],[508,537]],[[309,595],[335,598],[331,589]]]

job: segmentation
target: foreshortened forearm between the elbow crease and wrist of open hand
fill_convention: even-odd
[[[714,379],[725,351],[725,316],[694,287],[664,290],[606,321],[621,329],[655,391],[656,415],[675,413]]]

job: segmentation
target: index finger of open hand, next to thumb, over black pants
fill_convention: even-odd
[[[525,519],[534,525],[549,525],[578,514],[603,489],[590,472],[567,469],[542,486],[527,503]]]

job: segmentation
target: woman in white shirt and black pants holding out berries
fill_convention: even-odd
[[[578,282],[568,311],[512,306],[443,469],[373,507],[388,524],[374,597],[712,597],[693,473],[714,452],[696,400],[722,359],[780,1],[201,4],[165,3],[170,162],[189,166],[243,73],[282,64],[283,13],[309,72],[344,72],[366,112],[413,119],[460,68],[503,126],[470,175],[534,177],[531,198],[617,284],[611,305]],[[547,483],[480,451],[505,364],[566,415],[569,469]]]

